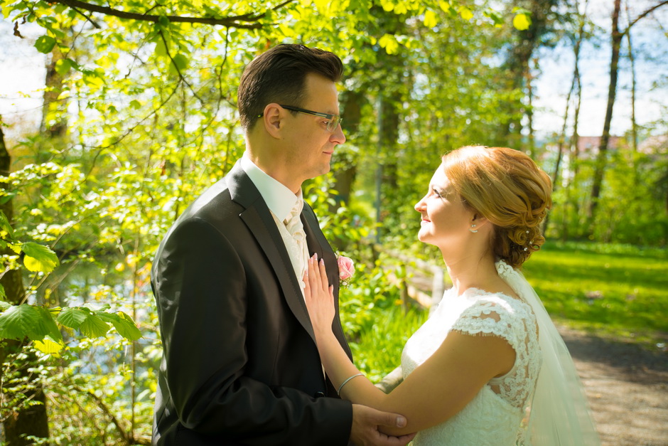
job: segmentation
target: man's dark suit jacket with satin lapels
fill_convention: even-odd
[[[338,298],[335,255],[306,204],[301,218]],[[239,162],[169,230],[151,285],[164,348],[153,445],[348,444],[352,405],[323,376],[290,257]],[[350,355],[338,309],[333,328]]]

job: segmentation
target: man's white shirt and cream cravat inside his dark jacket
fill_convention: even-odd
[[[301,189],[299,190],[299,194],[295,195],[280,181],[267,175],[262,169],[256,166],[246,154],[242,156],[241,166],[255,187],[257,187],[260,195],[264,198],[266,206],[269,208],[269,211],[271,211],[271,216],[274,217],[276,228],[278,228],[279,233],[281,233],[281,238],[285,243],[293,270],[297,277],[297,282],[301,286],[301,293],[303,294],[305,286],[303,283],[303,275],[306,271],[306,262],[308,261],[308,247],[306,246],[306,240],[304,240],[304,243],[301,244],[302,246],[300,248],[289,230],[286,228],[286,223],[284,223],[286,218],[291,216],[291,211],[295,206],[299,206],[300,209],[302,208],[303,198]]]

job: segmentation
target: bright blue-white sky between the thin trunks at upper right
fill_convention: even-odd
[[[583,3],[583,1],[581,1]],[[624,1],[622,2],[625,3]],[[635,18],[658,0],[629,0],[630,16]],[[610,14],[613,0],[588,1],[588,17],[595,26],[609,31],[612,28]],[[626,13],[622,11],[621,26],[626,27]],[[661,23],[664,23],[662,28]],[[631,28],[632,45],[635,56],[636,75],[636,121],[647,124],[668,112],[668,5],[657,9],[654,14],[642,18]],[[617,97],[613,109],[611,133],[622,135],[631,127],[631,70],[624,40],[617,87]],[[536,85],[539,107],[535,124],[539,134],[560,132],[564,124],[566,96],[573,75],[573,49],[569,43],[561,43],[554,49],[543,50],[539,63],[539,80]],[[603,132],[605,108],[610,85],[610,42],[590,41],[581,48],[582,105],[578,133],[583,136],[599,136]],[[663,87],[652,88],[656,83]],[[571,112],[573,105],[571,104]]]

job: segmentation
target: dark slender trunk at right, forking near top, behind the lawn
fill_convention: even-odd
[[[603,174],[605,173],[605,164],[608,158],[608,146],[610,144],[610,122],[613,120],[613,106],[617,95],[617,78],[619,71],[619,51],[623,38],[623,33],[619,29],[619,13],[621,0],[615,1],[613,10],[613,33],[612,33],[612,55],[610,57],[610,85],[608,87],[608,106],[605,109],[605,121],[603,122],[603,133],[600,135],[600,144],[598,154],[596,155],[596,165],[591,186],[591,201],[587,213],[589,235],[593,234],[593,221],[596,219],[596,209],[600,198],[600,188],[603,184]]]

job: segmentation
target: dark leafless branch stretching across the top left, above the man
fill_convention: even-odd
[[[276,11],[276,9],[279,9],[285,6],[286,4],[291,3],[291,1],[294,0],[286,0],[283,3],[279,4],[279,6],[272,8],[271,11]],[[70,8],[85,9],[86,11],[99,12],[101,14],[106,14],[107,16],[130,18],[132,20],[158,22],[161,18],[161,16],[156,16],[153,14],[139,14],[134,12],[119,11],[118,9],[110,8],[109,6],[100,6],[79,0],[55,0],[55,3],[64,4],[65,6],[70,6]],[[222,26],[232,26],[235,28],[259,29],[262,28],[262,24],[253,22],[259,21],[259,19],[263,18],[265,15],[266,12],[262,14],[242,14],[239,16],[229,16],[222,18],[183,17],[183,16],[164,16],[164,17],[168,18],[168,20],[173,23],[204,23],[207,25],[222,25]],[[247,23],[239,23],[239,22],[247,22]]]

